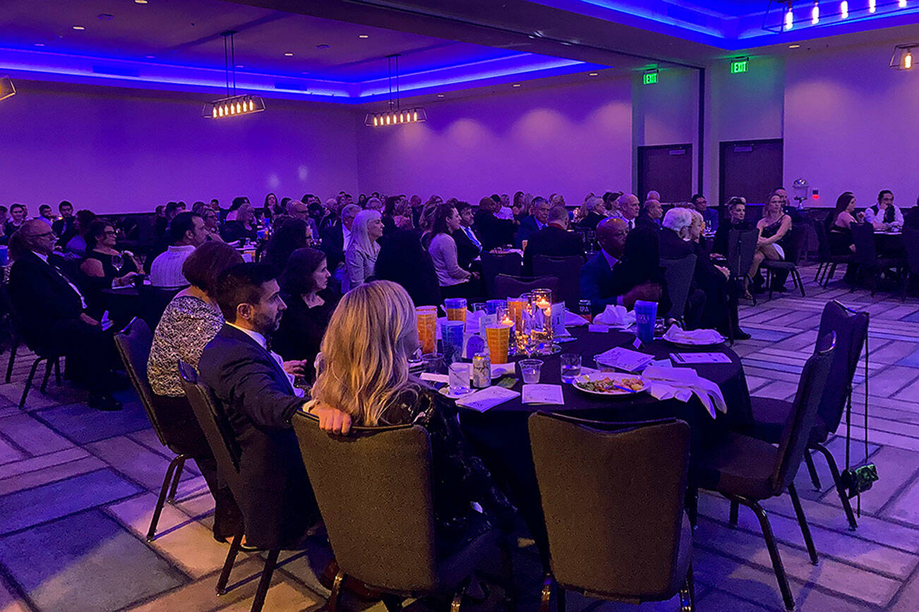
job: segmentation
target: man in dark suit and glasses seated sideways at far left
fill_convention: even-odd
[[[119,410],[110,394],[118,362],[112,335],[86,314],[84,295],[49,261],[55,238],[47,223],[32,219],[10,240],[10,249],[21,251],[9,274],[18,331],[29,347],[67,358],[68,373],[89,390],[89,406]]]

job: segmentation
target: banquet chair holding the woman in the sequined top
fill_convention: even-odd
[[[176,488],[182,477],[182,469],[189,456],[178,451],[176,445],[166,435],[161,420],[156,414],[156,405],[153,401],[153,389],[147,379],[147,360],[150,358],[150,347],[153,345],[153,332],[147,327],[142,318],[134,317],[128,326],[115,334],[115,347],[118,349],[124,370],[128,373],[130,384],[141,399],[141,406],[150,419],[153,431],[160,440],[160,444],[175,454],[169,467],[166,468],[160,495],[156,498],[153,508],[153,518],[150,519],[150,529],[147,529],[147,541],[152,542],[156,537],[156,525],[159,523],[163,506],[166,502],[172,504],[176,500]]]

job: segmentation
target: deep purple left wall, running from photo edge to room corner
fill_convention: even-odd
[[[357,190],[352,109],[269,99],[264,113],[214,121],[200,117],[204,99],[17,81],[0,103],[0,204],[140,212],[173,199],[227,206],[235,195]]]

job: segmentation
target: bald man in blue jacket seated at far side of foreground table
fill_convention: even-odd
[[[617,217],[604,219],[596,226],[596,241],[600,244],[600,252],[581,268],[581,299],[590,300],[591,312],[595,315],[610,305],[631,309],[635,306],[635,300],[657,302],[663,295],[661,286],[654,283],[631,287],[622,295],[614,294],[613,267],[622,257],[628,235],[628,224]]]

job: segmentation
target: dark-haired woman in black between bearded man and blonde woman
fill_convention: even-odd
[[[310,383],[315,378],[313,362],[339,298],[328,290],[331,276],[325,253],[304,248],[293,251],[279,279],[287,310],[272,340],[272,349],[285,362],[306,360],[306,378]]]

